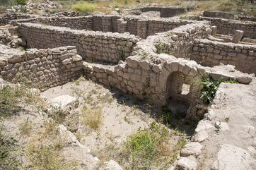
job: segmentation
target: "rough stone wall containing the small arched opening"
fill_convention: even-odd
[[[165,104],[170,98],[187,104],[202,104],[198,99],[199,90],[192,90],[186,95],[181,94],[180,87],[185,82],[182,75],[191,71],[197,73],[197,63],[184,59],[173,61],[139,61],[136,57],[127,58],[127,62],[120,62],[117,66],[102,66],[95,63],[83,63],[84,73],[93,81],[98,80],[105,85],[117,87],[124,93],[131,93],[138,99],[149,99],[149,102],[158,107]],[[173,78],[175,75],[175,78]],[[178,77],[178,78],[177,78]],[[149,86],[147,86],[149,83]],[[171,91],[170,91],[171,90]]]

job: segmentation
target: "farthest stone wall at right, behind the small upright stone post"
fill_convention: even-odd
[[[256,39],[256,22],[243,20],[228,20],[223,18],[209,18],[200,16],[194,19],[211,21],[211,26],[217,26],[218,34],[235,34],[235,30],[243,30],[243,36]]]

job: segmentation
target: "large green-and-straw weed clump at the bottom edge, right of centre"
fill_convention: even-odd
[[[168,128],[156,122],[144,130],[139,128],[124,142],[120,163],[129,160],[129,164],[124,165],[125,169],[168,168],[175,161],[177,149],[185,145],[184,141],[179,140],[175,147],[168,147],[172,135]]]

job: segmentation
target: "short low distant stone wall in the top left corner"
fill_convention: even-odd
[[[6,25],[10,20],[27,19],[35,16],[27,13],[5,13],[0,16],[0,25]]]

